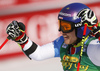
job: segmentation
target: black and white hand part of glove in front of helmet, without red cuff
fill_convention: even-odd
[[[81,17],[81,23],[87,23],[88,27],[92,27],[98,22],[95,13],[91,9],[83,9],[79,12],[78,17]]]

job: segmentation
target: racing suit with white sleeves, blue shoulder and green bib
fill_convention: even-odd
[[[60,36],[51,43],[37,46],[32,52],[32,41],[29,39],[23,47],[23,52],[31,52],[27,56],[30,59],[44,60],[53,57],[60,57],[64,71],[76,71],[81,50],[81,42],[70,46],[64,43],[63,36]],[[31,47],[31,49],[30,49]],[[73,49],[74,48],[74,49]],[[100,71],[100,43],[98,39],[87,36],[84,42],[83,55],[81,59],[80,71]]]

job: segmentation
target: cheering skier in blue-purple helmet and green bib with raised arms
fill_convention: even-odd
[[[60,57],[64,71],[76,71],[84,43],[79,71],[100,71],[100,24],[94,12],[82,3],[71,3],[58,14],[59,32],[62,36],[39,46],[25,34],[22,22],[12,21],[6,29],[8,39],[17,42],[22,51],[34,60]],[[88,25],[82,41],[84,24]]]

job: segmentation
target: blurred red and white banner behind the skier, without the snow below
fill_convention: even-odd
[[[23,22],[26,26],[26,34],[29,38],[39,45],[46,44],[48,42],[53,41],[56,39],[60,34],[58,32],[58,13],[61,10],[62,6],[60,7],[45,7],[43,5],[43,1],[47,2],[47,0],[9,0],[5,7],[5,1],[1,0],[0,2],[0,45],[3,41],[7,38],[6,34],[6,27],[7,25],[13,21],[17,20],[19,22]],[[26,3],[38,3],[39,7],[33,7],[29,5],[28,9],[26,6],[14,6]],[[49,1],[50,2],[50,1]],[[1,5],[2,4],[2,5]],[[49,3],[50,4],[50,3]],[[12,7],[12,5],[15,7]],[[87,4],[97,15],[98,20],[100,20],[100,2],[98,3],[91,3]],[[11,7],[10,7],[11,6]],[[38,6],[38,5],[37,5]],[[42,7],[43,6],[43,7]],[[35,8],[35,9],[32,9]],[[45,7],[45,8],[44,8]],[[18,9],[19,8],[19,9]],[[39,8],[39,9],[38,9]],[[43,8],[43,9],[42,9]],[[22,10],[21,10],[22,9]],[[25,10],[27,9],[27,11]],[[20,10],[20,11],[19,11]],[[31,11],[30,11],[31,10]],[[14,53],[22,53],[21,49],[14,41],[9,40],[7,44],[0,50],[0,57],[4,55],[14,54]]]

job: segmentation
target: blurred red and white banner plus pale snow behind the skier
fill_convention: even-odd
[[[26,34],[39,45],[59,36],[57,15],[69,3],[89,6],[100,20],[100,0],[0,0],[0,45],[7,38],[6,27],[13,21],[23,22]],[[0,71],[63,71],[60,58],[43,61],[28,59],[20,47],[9,40],[0,50]]]

